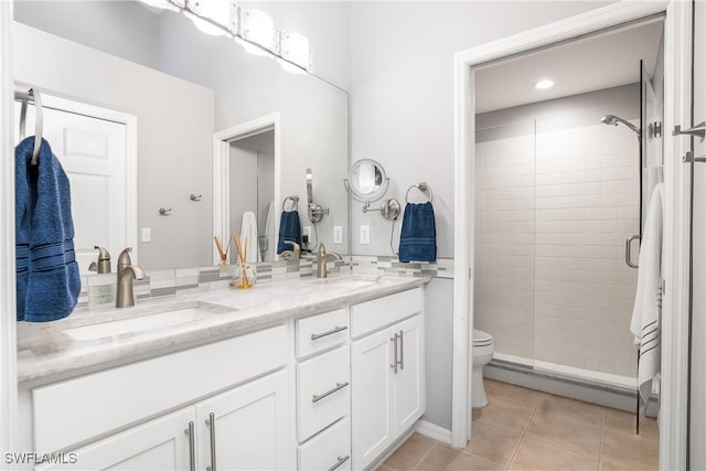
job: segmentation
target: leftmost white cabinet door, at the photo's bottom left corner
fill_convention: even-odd
[[[160,417],[124,432],[64,453],[65,463],[38,470],[186,470],[190,469],[189,422],[194,410]],[[71,461],[74,461],[73,463]]]

